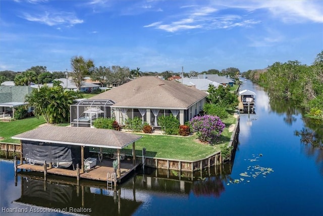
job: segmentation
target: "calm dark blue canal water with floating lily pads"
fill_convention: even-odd
[[[249,81],[244,89],[257,94],[256,113],[241,114],[233,164],[195,172],[193,181],[185,173],[145,168],[113,192],[104,184],[77,187],[73,179],[20,175],[15,186],[14,164],[2,160],[0,215],[323,215],[323,151],[295,136],[310,125],[322,138],[322,124],[313,126]],[[27,212],[4,212],[12,209]]]

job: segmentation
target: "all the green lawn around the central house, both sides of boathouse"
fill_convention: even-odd
[[[229,144],[232,132],[229,132],[230,124],[236,123],[233,116],[224,120],[226,128],[221,135],[219,144],[208,145],[196,141],[196,136],[189,137],[165,136],[165,135],[149,135],[139,134],[142,139],[136,142],[136,155],[140,156],[142,148],[146,148],[146,156],[181,159],[181,160],[197,160],[205,158],[220,150],[224,144]],[[45,123],[43,118],[35,117],[11,122],[0,122],[0,137],[5,139],[1,142],[19,143],[19,140],[11,139],[12,136],[21,134],[36,128],[40,124]],[[64,126],[63,124],[62,126]],[[97,149],[98,150],[98,149]],[[103,152],[114,152],[116,150],[104,149]],[[122,150],[123,153],[132,154],[132,145]]]

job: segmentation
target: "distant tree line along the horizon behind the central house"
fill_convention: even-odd
[[[238,68],[227,68],[221,71],[217,69],[210,69],[200,73],[190,71],[183,73],[184,77],[197,76],[198,74],[219,74],[220,76],[230,76],[232,78],[238,77],[240,71]],[[92,80],[98,81],[103,87],[104,85],[120,85],[127,82],[129,79],[134,79],[139,76],[158,75],[167,79],[171,76],[179,76],[181,72],[174,72],[166,70],[163,72],[142,72],[140,68],[129,69],[129,67],[113,66],[95,66],[91,59],[84,59],[82,56],[74,56],[71,58],[71,71],[54,71],[49,72],[46,66],[32,66],[25,71],[0,71],[0,83],[4,81],[14,81],[16,85],[31,85],[51,83],[55,79],[70,77],[75,83],[78,90],[80,90],[82,81],[86,76]]]

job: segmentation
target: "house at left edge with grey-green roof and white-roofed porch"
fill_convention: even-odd
[[[32,92],[28,86],[0,86],[0,117],[14,117],[14,108],[25,105],[25,97]]]

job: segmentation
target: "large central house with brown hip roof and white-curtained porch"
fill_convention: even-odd
[[[127,118],[138,116],[152,126],[159,126],[158,117],[171,113],[184,124],[202,110],[206,96],[206,93],[198,89],[175,81],[161,80],[156,76],[143,76],[82,103],[91,104],[89,109],[101,110],[100,113],[94,113],[94,116],[114,116],[121,124],[125,124]],[[104,101],[108,105],[100,106],[99,104],[103,104]],[[109,110],[109,113],[106,113],[106,110]],[[71,116],[75,113],[80,117],[82,115],[80,111],[73,112]]]

